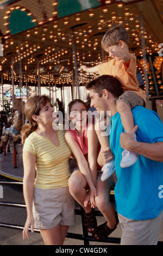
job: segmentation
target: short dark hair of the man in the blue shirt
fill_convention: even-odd
[[[112,75],[102,75],[92,80],[86,86],[87,90],[94,90],[98,93],[99,97],[102,97],[103,90],[110,92],[115,98],[118,98],[123,93],[120,81],[118,81]]]

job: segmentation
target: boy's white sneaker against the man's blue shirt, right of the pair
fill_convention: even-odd
[[[120,163],[121,167],[126,168],[133,165],[137,161],[138,157],[139,157],[139,153],[136,153],[134,151],[124,150],[122,152],[122,160]]]

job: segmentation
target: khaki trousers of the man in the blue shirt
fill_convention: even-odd
[[[134,221],[118,214],[122,228],[121,245],[157,245],[163,211],[155,219]]]

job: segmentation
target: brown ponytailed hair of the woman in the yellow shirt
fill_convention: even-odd
[[[28,122],[24,124],[21,129],[22,135],[22,144],[24,145],[24,141],[26,138],[33,133],[37,127],[37,122],[33,119],[33,115],[39,115],[42,106],[45,106],[47,103],[51,103],[51,100],[45,94],[42,96],[30,96],[24,105],[24,115],[27,117]]]

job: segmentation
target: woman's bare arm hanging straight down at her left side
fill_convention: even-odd
[[[24,177],[23,177],[23,194],[24,200],[27,207],[27,221],[23,230],[23,239],[29,237],[28,229],[31,227],[32,232],[34,232],[34,218],[33,218],[33,192],[34,192],[34,181],[35,181],[35,162],[36,156],[29,153],[28,151],[23,151],[23,166],[24,166]]]

